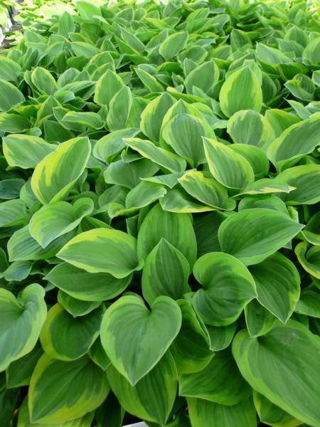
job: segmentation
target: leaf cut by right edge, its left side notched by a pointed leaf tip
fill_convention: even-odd
[[[283,194],[281,199],[288,205],[316,204],[320,201],[320,165],[302,164],[281,172],[277,179],[296,189]]]

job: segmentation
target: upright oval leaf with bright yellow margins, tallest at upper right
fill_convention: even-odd
[[[262,90],[255,73],[247,65],[235,70],[223,83],[219,100],[227,117],[240,110],[260,112]]]

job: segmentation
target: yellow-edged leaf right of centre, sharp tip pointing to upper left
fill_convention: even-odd
[[[203,139],[209,170],[213,177],[230,189],[245,189],[255,180],[250,163],[227,145],[215,139]]]

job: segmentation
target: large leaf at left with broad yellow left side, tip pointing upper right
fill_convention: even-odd
[[[73,138],[38,163],[31,178],[31,188],[37,199],[42,204],[64,199],[85,170],[90,151],[87,137]]]

